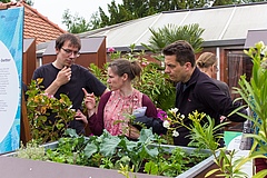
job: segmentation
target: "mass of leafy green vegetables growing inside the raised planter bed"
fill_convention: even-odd
[[[126,177],[135,176],[134,172],[175,177],[209,156],[189,154],[179,147],[170,152],[162,142],[150,129],[142,129],[137,141],[125,136],[111,136],[106,130],[100,137],[86,138],[67,129],[58,147],[47,149],[42,157],[63,164],[118,169]]]

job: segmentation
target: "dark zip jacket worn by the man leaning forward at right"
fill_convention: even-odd
[[[228,116],[233,110],[238,108],[237,103],[227,97],[220,88],[206,73],[196,68],[188,82],[178,82],[176,86],[176,108],[181,115],[185,115],[185,123],[191,122],[187,118],[192,111],[205,112],[215,119],[216,125],[220,122],[220,116]],[[246,113],[246,110],[241,110]],[[243,122],[246,119],[238,115],[227,117],[231,121]],[[175,137],[175,145],[187,146],[190,139],[187,137],[189,130],[185,127],[178,128],[179,137]]]

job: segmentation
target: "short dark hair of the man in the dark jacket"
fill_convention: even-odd
[[[190,62],[191,66],[196,66],[196,58],[194,49],[190,43],[184,40],[178,40],[164,48],[162,53],[165,56],[176,56],[176,61],[184,66],[186,62]]]

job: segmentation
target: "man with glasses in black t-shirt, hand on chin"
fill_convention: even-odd
[[[63,33],[56,40],[57,58],[52,63],[47,63],[33,72],[32,79],[42,78],[46,93],[60,98],[65,93],[72,101],[72,109],[77,110],[77,116],[70,122],[70,128],[78,134],[83,132],[87,117],[81,113],[81,105],[85,97],[82,88],[88,93],[101,96],[107,91],[107,87],[101,83],[87,68],[75,65],[76,58],[80,56],[80,39],[71,33]],[[49,117],[53,121],[55,115]]]

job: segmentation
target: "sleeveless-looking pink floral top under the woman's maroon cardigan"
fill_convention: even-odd
[[[134,89],[130,96],[121,96],[119,90],[112,91],[103,111],[103,125],[112,136],[121,135],[127,129],[126,115],[131,115],[142,107],[142,93]]]

